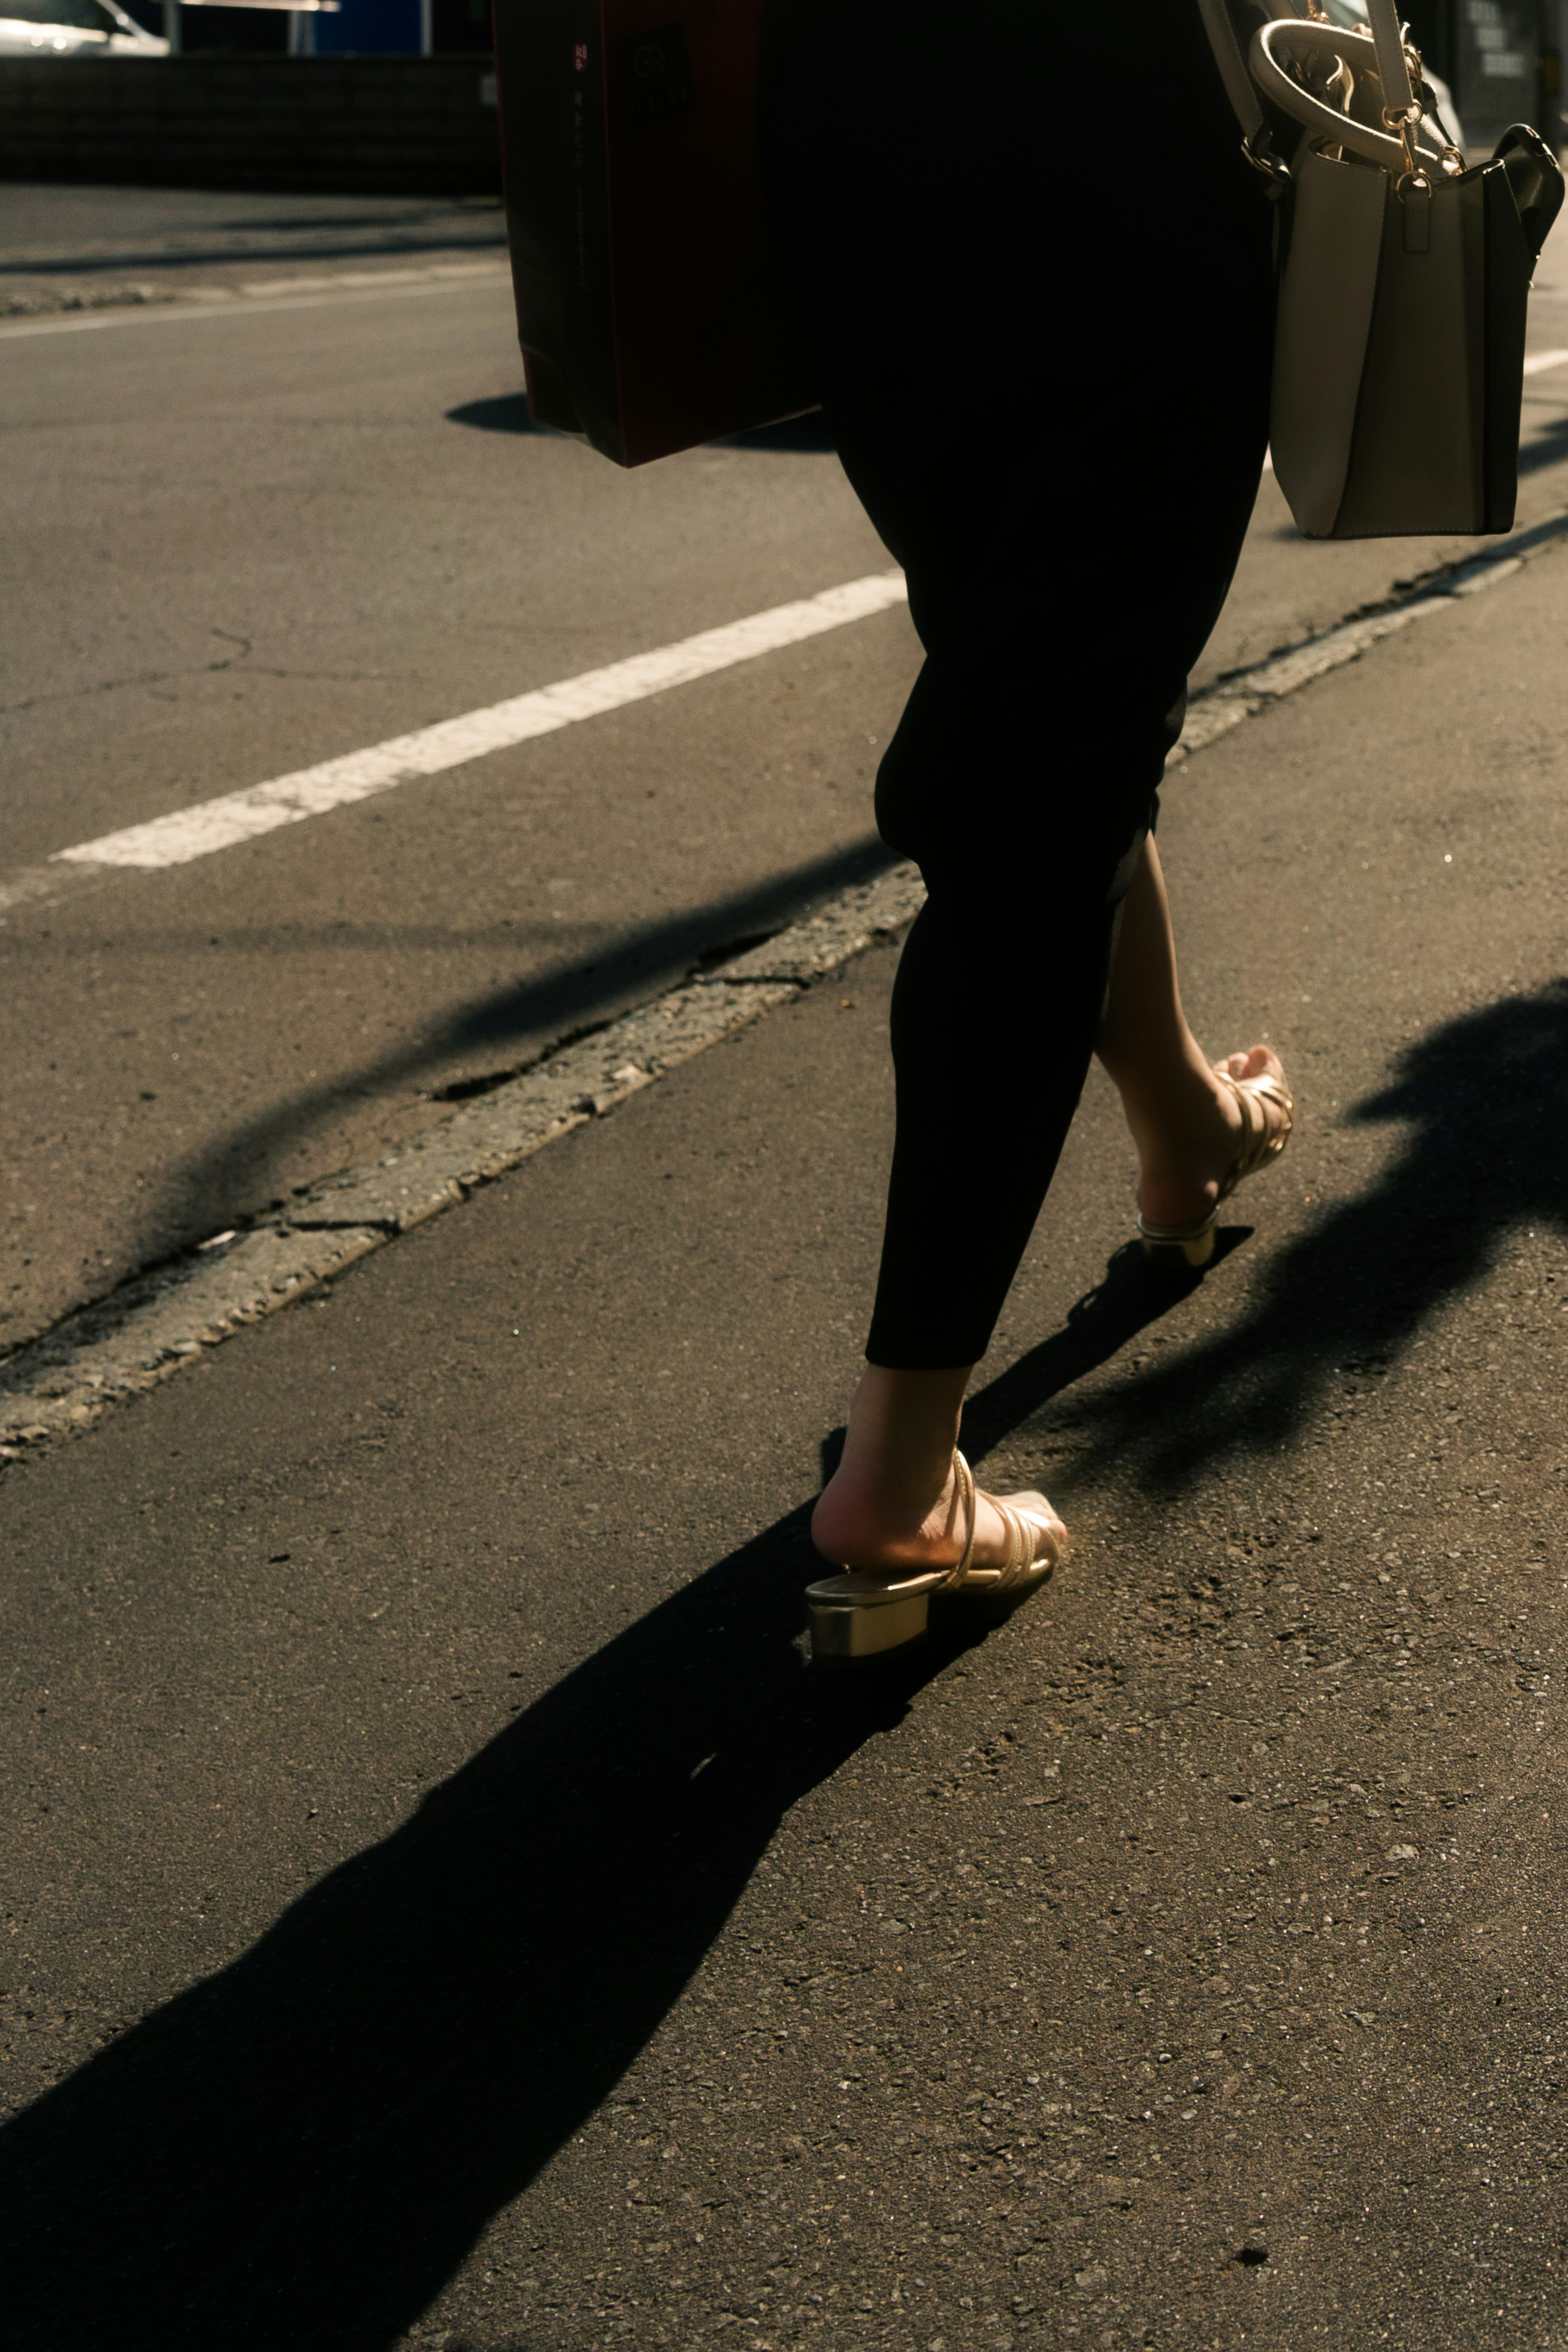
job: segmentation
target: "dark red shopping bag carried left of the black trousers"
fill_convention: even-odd
[[[496,0],[529,402],[618,466],[816,405],[762,207],[764,5]]]

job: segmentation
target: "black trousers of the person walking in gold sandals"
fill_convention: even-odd
[[[1237,141],[1192,0],[851,0],[769,82],[797,315],[926,649],[877,776],[929,898],[875,1364],[985,1355],[1084,1087],[1267,440]]]

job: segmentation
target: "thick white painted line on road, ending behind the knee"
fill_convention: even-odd
[[[249,842],[275,826],[324,816],[327,809],[369,800],[374,793],[390,793],[416,776],[440,776],[442,769],[482,760],[491,750],[555,734],[559,727],[576,727],[578,720],[646,701],[649,694],[665,694],[693,677],[712,677],[715,670],[729,670],[736,661],[755,661],[783,644],[820,637],[830,628],[844,628],[846,621],[863,621],[867,614],[903,604],[907,593],[903,572],[875,572],[867,579],[846,581],[842,588],[802,597],[797,604],[776,604],[745,621],[705,628],[696,637],[682,637],[679,644],[661,644],[651,654],[632,654],[630,661],[611,661],[602,670],[583,670],[581,677],[562,677],[555,687],[517,694],[512,701],[491,703],[489,710],[468,710],[463,717],[440,720],[440,724],[421,727],[416,734],[371,743],[369,750],[350,750],[339,760],[301,767],[292,776],[252,783],[242,793],[223,793],[221,800],[205,800],[195,809],[174,809],[146,826],[127,826],[96,842],[56,849],[49,866],[186,866],[190,858],[228,849],[230,842]]]

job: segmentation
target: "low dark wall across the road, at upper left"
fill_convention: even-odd
[[[482,56],[5,56],[0,176],[494,195]]]

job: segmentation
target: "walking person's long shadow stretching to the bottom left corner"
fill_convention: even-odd
[[[1119,1254],[1030,1402],[1168,1298]],[[378,2352],[428,2307],[656,2032],[790,1806],[997,1621],[933,1613],[907,1658],[809,1675],[806,1524],[628,1628],[0,2133],[9,2352]]]

